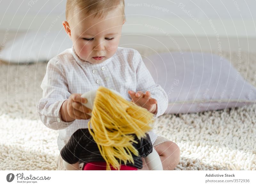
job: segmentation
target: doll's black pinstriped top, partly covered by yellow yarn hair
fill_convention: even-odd
[[[134,154],[132,154],[134,164],[131,162],[128,162],[126,164],[126,166],[128,166],[126,168],[128,168],[129,170],[132,169],[132,167],[134,168],[133,170],[137,168],[141,169],[141,158],[148,156],[152,152],[153,148],[148,134],[140,139],[138,139],[135,135],[134,137],[135,141],[137,141],[138,143],[132,143],[132,145],[138,150],[139,156],[135,156]],[[76,130],[76,132],[68,140],[68,143],[61,149],[60,155],[69,164],[84,162],[84,167],[87,163],[89,164],[90,162],[92,163],[88,166],[104,166],[104,163],[106,164],[105,160],[100,154],[97,143],[95,143],[88,128],[80,128]],[[121,162],[121,165],[124,165],[124,162]],[[123,170],[126,170],[125,167],[123,168]],[[106,170],[106,167],[104,170]]]

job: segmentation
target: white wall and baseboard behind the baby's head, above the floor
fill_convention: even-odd
[[[66,0],[2,0],[0,29],[60,30],[65,5]],[[256,37],[255,7],[255,0],[126,0],[123,34]]]

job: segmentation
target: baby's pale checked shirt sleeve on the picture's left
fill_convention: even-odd
[[[41,88],[43,89],[43,97],[36,105],[40,120],[46,127],[54,130],[67,128],[74,121],[61,120],[60,107],[71,94],[68,92],[65,70],[58,60],[52,58],[47,63]]]

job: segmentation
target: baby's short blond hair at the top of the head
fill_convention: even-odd
[[[93,14],[94,17],[104,17],[116,8],[120,8],[125,20],[124,0],[67,0],[66,19],[70,20],[75,11],[84,15]]]

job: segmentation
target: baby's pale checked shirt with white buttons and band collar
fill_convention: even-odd
[[[72,93],[85,93],[99,86],[114,89],[131,101],[128,90],[149,91],[157,100],[155,118],[162,115],[168,106],[164,89],[156,84],[137,50],[118,47],[106,61],[92,64],[78,58],[73,46],[52,58],[46,68],[41,88],[43,97],[37,104],[37,112],[44,125],[59,130],[58,147],[61,150],[70,136],[79,128],[88,128],[90,120],[65,122],[60,117],[60,107]],[[152,144],[156,133],[149,132]]]

